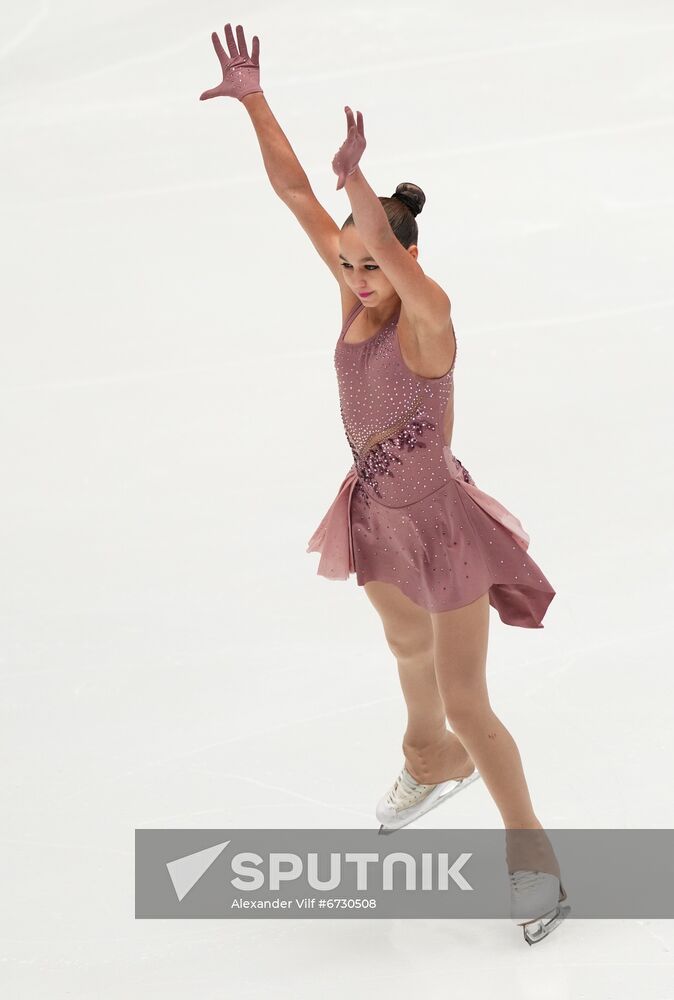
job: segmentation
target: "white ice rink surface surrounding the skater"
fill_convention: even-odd
[[[542,630],[491,611],[491,701],[549,827],[674,827],[674,5],[0,11],[7,1000],[671,1000],[674,924],[136,920],[134,830],[376,828],[396,664],[306,544],[352,462],[334,278],[210,34],[317,197],[345,104],[419,184],[452,300],[453,451],[531,535]],[[501,825],[484,783],[420,828]]]

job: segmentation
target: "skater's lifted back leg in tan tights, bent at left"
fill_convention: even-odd
[[[436,784],[472,774],[475,765],[454,733],[435,678],[433,624],[424,608],[389,583],[366,583],[365,592],[381,618],[407,704],[402,749],[416,781]]]

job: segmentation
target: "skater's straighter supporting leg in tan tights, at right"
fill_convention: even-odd
[[[437,686],[449,724],[466,747],[501,813],[506,830],[543,830],[534,813],[522,759],[512,736],[494,714],[486,681],[489,595],[454,611],[431,614]],[[509,862],[559,876],[545,834],[506,835]],[[526,842],[529,864],[519,850]],[[531,857],[531,850],[536,857]],[[515,870],[511,864],[509,868]]]

